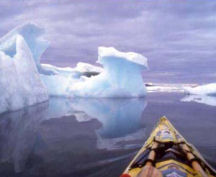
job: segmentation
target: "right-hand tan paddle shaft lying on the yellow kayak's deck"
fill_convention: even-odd
[[[192,154],[190,148],[186,144],[181,144],[180,147],[183,149],[183,151],[186,153],[187,159],[190,161],[195,158],[195,156]],[[197,160],[193,160],[191,163],[194,170],[196,170],[202,177],[208,177],[206,172],[203,170],[201,165]]]

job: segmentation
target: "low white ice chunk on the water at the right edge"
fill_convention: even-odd
[[[185,92],[193,95],[216,95],[216,83],[197,87],[185,87]]]

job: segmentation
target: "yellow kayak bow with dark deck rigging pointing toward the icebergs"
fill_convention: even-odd
[[[216,177],[198,150],[161,117],[121,177]]]

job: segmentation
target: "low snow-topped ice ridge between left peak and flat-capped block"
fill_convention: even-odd
[[[62,68],[50,64],[41,64],[41,67],[44,72],[40,74],[40,77],[46,85],[49,95],[65,97],[72,96],[72,85],[103,71],[101,67],[82,62],[77,63],[75,68]]]

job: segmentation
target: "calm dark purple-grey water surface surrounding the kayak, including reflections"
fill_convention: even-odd
[[[216,107],[183,97],[52,98],[1,114],[0,176],[119,176],[163,115],[216,167]]]

